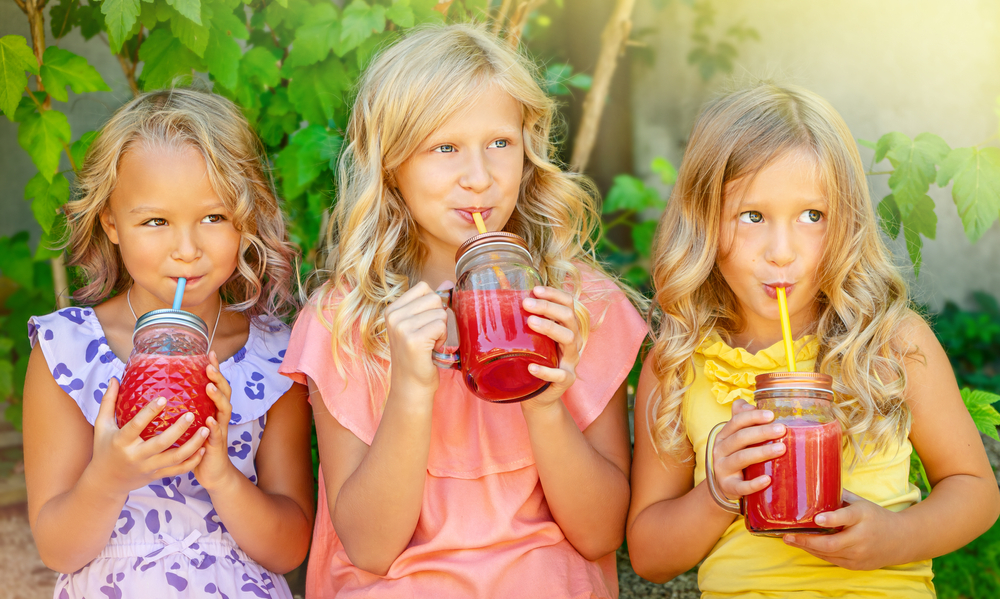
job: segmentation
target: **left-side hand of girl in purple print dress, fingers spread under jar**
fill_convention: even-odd
[[[118,428],[115,423],[118,387],[118,379],[111,379],[94,421],[91,467],[99,479],[110,489],[127,494],[158,478],[177,476],[196,467],[205,453],[200,449],[204,434],[196,433],[184,445],[170,449],[191,425],[194,415],[184,414],[163,433],[143,441],[139,434],[163,410],[167,400],[161,397],[149,402],[125,426]]]

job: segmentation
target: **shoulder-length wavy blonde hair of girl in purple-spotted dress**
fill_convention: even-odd
[[[135,97],[115,112],[87,151],[74,199],[66,204],[69,263],[81,268],[85,281],[74,299],[98,304],[132,284],[100,223],[122,157],[136,148],[182,146],[201,152],[212,188],[240,232],[236,272],[220,289],[227,309],[250,318],[289,315],[299,303],[291,286],[297,252],[285,234],[263,146],[232,102],[192,89]]]

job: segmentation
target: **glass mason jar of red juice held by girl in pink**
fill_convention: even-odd
[[[555,342],[532,331],[522,307],[542,284],[528,246],[513,233],[476,235],[456,254],[454,289],[439,294],[455,312],[458,350],[434,352],[441,368],[461,370],[465,383],[487,401],[523,401],[549,383],[528,371],[529,364],[555,368]]]

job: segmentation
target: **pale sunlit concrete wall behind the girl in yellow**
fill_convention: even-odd
[[[991,0],[714,0],[713,38],[741,20],[760,42],[739,45],[733,76],[702,81],[687,63],[693,13],[681,2],[658,11],[639,0],[636,23],[653,25],[652,66],[633,61],[632,122],[637,172],[666,156],[679,164],[699,107],[748,76],[768,76],[827,98],[855,137],[890,131],[937,133],[952,147],[979,144],[997,132],[1000,96],[1000,3]],[[992,143],[996,143],[995,139]],[[873,153],[861,149],[864,160]],[[888,165],[888,162],[885,163]],[[888,193],[888,177],[869,178],[872,196]],[[1000,296],[1000,227],[969,243],[950,189],[932,186],[937,240],[924,245],[913,287],[919,301],[965,302],[974,290]],[[905,247],[893,246],[909,264]],[[912,279],[912,275],[911,275]]]

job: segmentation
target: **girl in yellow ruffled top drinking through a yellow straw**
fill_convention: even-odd
[[[656,341],[639,381],[628,517],[632,565],[654,581],[701,562],[703,597],[934,597],[931,558],[990,527],[1000,492],[948,358],[910,309],[879,237],[864,168],[822,98],[759,84],[701,114],[654,251]],[[844,431],[842,531],[751,536],[717,507],[764,489],[743,468],[782,437],[754,376],[785,371],[777,288],[798,370],[834,378]],[[916,450],[933,485],[909,483]]]

